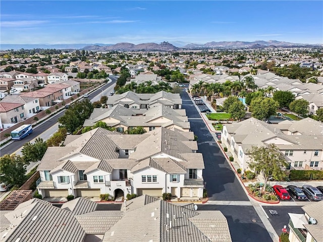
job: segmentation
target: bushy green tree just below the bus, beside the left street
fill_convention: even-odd
[[[24,144],[21,153],[23,154],[24,161],[27,165],[30,162],[41,160],[47,149],[47,144],[43,139],[37,138],[34,144],[27,142]]]

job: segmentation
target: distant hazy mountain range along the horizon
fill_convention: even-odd
[[[1,44],[2,50],[7,49],[85,49],[96,51],[169,51],[181,49],[206,49],[206,48],[278,48],[278,47],[322,47],[322,44],[297,44],[277,40],[248,41],[220,41],[202,43],[188,43],[183,41],[156,43],[117,43],[117,44]]]

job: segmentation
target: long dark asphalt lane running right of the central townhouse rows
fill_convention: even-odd
[[[198,152],[203,154],[205,165],[203,178],[209,200],[249,201],[188,94],[183,91],[181,96],[182,108],[186,110],[191,131],[198,137]]]

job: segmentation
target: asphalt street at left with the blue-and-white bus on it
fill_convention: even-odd
[[[107,89],[110,86],[112,86],[117,81],[117,79],[118,79],[118,77],[115,77],[115,76],[114,77],[109,77],[109,78],[112,80],[112,82],[111,83],[107,83],[104,86],[100,87],[100,89],[97,89],[94,92],[92,92],[89,95],[88,99],[92,99],[95,96],[99,95],[100,93],[102,93],[102,90],[104,91],[105,89]],[[21,147],[23,147],[25,143],[27,143],[27,142],[35,139],[36,137],[38,137],[45,130],[47,130],[50,127],[52,127],[53,125],[55,125],[58,122],[57,120],[61,116],[63,116],[64,113],[65,113],[65,109],[62,110],[57,115],[54,115],[51,118],[47,119],[45,122],[41,123],[39,126],[37,126],[36,128],[34,128],[33,129],[33,133],[31,135],[27,136],[26,138],[24,138],[23,140],[12,141],[9,145],[3,146],[0,149],[1,156],[6,155],[6,154],[12,154],[12,153],[14,153],[16,150],[18,150]]]

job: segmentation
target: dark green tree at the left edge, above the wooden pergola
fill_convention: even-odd
[[[7,184],[21,186],[26,180],[26,165],[20,155],[4,155],[0,158],[0,170],[4,174],[1,181]]]

